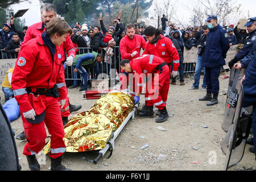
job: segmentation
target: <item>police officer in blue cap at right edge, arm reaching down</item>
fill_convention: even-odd
[[[243,57],[248,55],[248,53],[253,49],[253,41],[256,38],[256,30],[255,30],[255,24],[254,24],[254,18],[249,18],[248,22],[245,24],[245,27],[247,27],[247,31],[249,32],[249,37],[246,39],[245,46],[237,53],[237,55],[229,61],[229,68],[231,69],[234,64],[236,64],[238,61],[242,60]]]

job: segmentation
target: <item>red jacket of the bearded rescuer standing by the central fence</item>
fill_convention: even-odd
[[[121,39],[119,47],[121,59],[133,60],[141,56],[141,48],[145,49],[146,41],[141,35],[135,34],[133,39],[130,39],[129,36],[126,35],[124,38]],[[131,57],[131,54],[134,51],[137,51],[138,53],[134,57]]]

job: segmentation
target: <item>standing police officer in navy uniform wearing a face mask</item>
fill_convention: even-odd
[[[221,67],[225,65],[224,59],[229,50],[229,40],[226,30],[217,23],[216,15],[209,15],[206,22],[208,22],[209,32],[202,57],[207,82],[207,95],[200,98],[199,101],[210,101],[207,106],[212,106],[218,104],[218,92],[220,91],[218,77],[220,76]]]

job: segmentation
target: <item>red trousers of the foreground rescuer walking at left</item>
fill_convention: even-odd
[[[25,131],[25,136],[27,143],[24,146],[24,155],[34,155],[38,154],[46,144],[46,129],[44,124],[48,129],[49,134],[51,134],[51,151],[49,156],[53,159],[58,158],[63,155],[66,146],[64,143],[64,128],[61,119],[60,107],[57,98],[40,96],[46,106],[46,117],[44,121],[39,124],[32,124],[27,122],[26,118],[22,115],[23,127]]]

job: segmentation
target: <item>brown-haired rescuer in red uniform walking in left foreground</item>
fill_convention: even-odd
[[[68,23],[56,17],[42,35],[23,44],[16,60],[11,86],[27,139],[23,154],[31,170],[40,169],[35,154],[46,144],[44,124],[51,134],[51,170],[69,170],[61,165],[66,147],[59,105],[64,107],[67,92],[59,46],[71,33]]]

